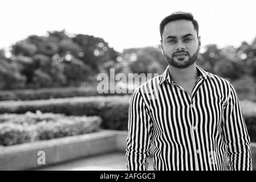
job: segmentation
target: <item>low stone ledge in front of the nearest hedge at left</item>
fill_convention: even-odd
[[[113,131],[101,130],[91,134],[17,144],[0,149],[0,170],[26,170],[42,167],[38,152],[44,151],[46,165],[65,162],[90,155],[115,151]]]

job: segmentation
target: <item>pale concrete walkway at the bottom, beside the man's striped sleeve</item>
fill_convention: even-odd
[[[149,170],[153,171],[152,156],[149,157]],[[113,152],[72,160],[54,166],[42,167],[40,171],[127,171],[125,154]]]

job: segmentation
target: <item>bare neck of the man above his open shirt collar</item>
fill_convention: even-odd
[[[174,82],[178,84],[186,84],[197,80],[198,73],[196,64],[190,65],[188,68],[178,69],[169,65],[169,74]]]

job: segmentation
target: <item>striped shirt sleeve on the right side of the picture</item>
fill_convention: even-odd
[[[229,166],[231,170],[251,171],[253,168],[251,163],[250,137],[242,117],[237,93],[230,83],[229,88],[230,93],[222,118]]]

